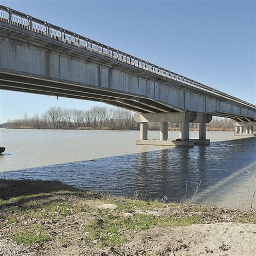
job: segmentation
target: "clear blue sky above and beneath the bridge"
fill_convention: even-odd
[[[254,0],[0,0],[256,104]],[[51,106],[105,105],[0,90],[0,123]]]

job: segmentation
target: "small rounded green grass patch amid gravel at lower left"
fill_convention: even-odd
[[[29,228],[24,228],[21,232],[15,234],[14,240],[17,244],[32,245],[35,242],[42,243],[50,240],[50,235],[41,225],[31,225]]]

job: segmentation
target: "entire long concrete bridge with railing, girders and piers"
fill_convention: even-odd
[[[0,89],[94,100],[134,112],[137,144],[208,144],[212,116],[232,118],[238,136],[254,136],[256,106],[90,38],[0,5]],[[150,122],[160,139],[147,140]],[[168,139],[168,123],[180,138]],[[190,138],[199,123],[199,138]]]

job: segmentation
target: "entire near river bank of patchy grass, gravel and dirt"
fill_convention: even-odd
[[[256,213],[0,181],[0,254],[255,252]]]

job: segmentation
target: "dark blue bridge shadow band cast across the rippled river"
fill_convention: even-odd
[[[256,140],[248,138],[3,172],[0,178],[59,180],[117,196],[179,202],[191,198],[199,183],[200,192],[207,190],[253,163],[255,150]]]

